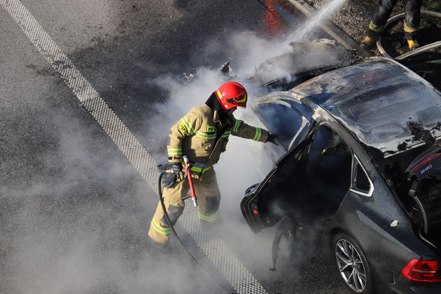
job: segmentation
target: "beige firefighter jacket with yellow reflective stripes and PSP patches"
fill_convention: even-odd
[[[199,178],[218,162],[230,135],[266,142],[269,132],[232,116],[222,125],[217,110],[206,105],[194,107],[171,128],[168,162],[182,162],[182,156],[187,155],[194,163],[191,169],[193,177]]]

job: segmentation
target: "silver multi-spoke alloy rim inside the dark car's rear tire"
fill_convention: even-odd
[[[340,274],[355,292],[366,288],[365,265],[360,254],[349,241],[340,239],[335,246],[335,255]]]

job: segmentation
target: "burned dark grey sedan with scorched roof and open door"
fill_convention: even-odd
[[[294,236],[309,224],[353,293],[441,293],[441,70],[424,60],[318,66],[254,100],[262,124],[285,137],[245,192],[247,223],[258,233],[290,219]],[[437,74],[429,83],[411,69]]]

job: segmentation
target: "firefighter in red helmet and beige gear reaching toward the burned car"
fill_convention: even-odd
[[[228,137],[233,135],[279,145],[277,139],[283,136],[270,134],[267,130],[252,127],[233,117],[232,114],[238,106],[247,106],[247,98],[247,91],[239,83],[224,83],[211,94],[205,102],[206,105],[191,109],[172,126],[167,146],[168,162],[158,164],[157,168],[160,171],[174,171],[165,174],[162,179],[162,196],[173,225],[184,210],[185,204],[181,197],[187,195],[189,190],[188,180],[183,179],[182,175],[183,155],[188,156],[192,165],[191,176],[195,179],[193,185],[198,196],[200,225],[202,229],[210,230],[221,222],[221,194],[213,165],[225,151]],[[170,252],[170,233],[172,230],[159,203],[150,223],[150,241],[164,253]]]

